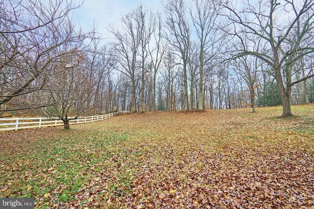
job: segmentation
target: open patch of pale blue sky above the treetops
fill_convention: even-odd
[[[97,32],[102,38],[112,37],[108,32],[109,24],[114,28],[121,26],[121,15],[126,15],[142,4],[152,11],[161,10],[162,0],[85,0],[83,5],[74,10],[73,19],[83,30],[90,30],[95,22]]]

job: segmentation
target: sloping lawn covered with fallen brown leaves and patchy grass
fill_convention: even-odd
[[[35,208],[314,208],[314,105],[0,133],[0,197]]]

